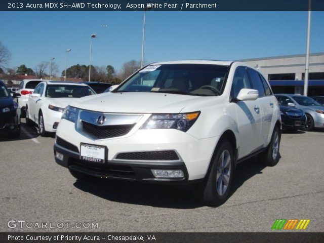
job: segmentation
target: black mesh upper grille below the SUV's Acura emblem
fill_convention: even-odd
[[[96,126],[86,121],[82,121],[83,131],[97,139],[114,138],[128,134],[135,124],[131,125],[113,125]]]

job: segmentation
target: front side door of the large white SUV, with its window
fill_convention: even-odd
[[[233,77],[231,98],[235,106],[237,115],[238,136],[238,158],[242,158],[254,152],[259,146],[261,113],[259,110],[259,101],[235,100],[241,89],[252,89],[246,67],[238,67]]]

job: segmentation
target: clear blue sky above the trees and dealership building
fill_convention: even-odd
[[[143,12],[0,12],[0,40],[10,67],[33,68],[55,57],[67,66],[120,69],[141,58]],[[105,27],[107,25],[107,27]],[[311,53],[324,52],[324,12],[312,12]],[[235,60],[305,53],[307,12],[147,12],[145,62]]]

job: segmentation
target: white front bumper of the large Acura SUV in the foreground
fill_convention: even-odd
[[[196,139],[187,133],[175,129],[136,129],[135,127],[129,134],[123,137],[95,140],[77,132],[74,128],[74,123],[65,119],[60,121],[56,136],[68,143],[64,147],[58,146],[57,143],[54,146],[54,151],[61,151],[60,153],[66,155],[67,158],[64,156],[63,166],[67,168],[69,168],[70,163],[80,163],[80,161],[75,160],[80,160],[80,143],[87,143],[105,146],[107,148],[107,165],[117,166],[122,164],[134,167],[134,171],[136,171],[137,168],[143,167],[146,168],[146,170],[148,168],[170,170],[173,170],[173,168],[183,168],[185,174],[184,181],[194,181],[205,178],[215,146],[219,139],[219,137]],[[64,148],[67,148],[67,151],[66,149],[62,150]],[[59,149],[61,150],[59,151]],[[119,157],[121,153],[165,150],[174,150],[179,159],[154,160],[149,158],[143,161],[137,158],[126,160],[125,157]],[[57,162],[62,165],[60,161]],[[84,161],[82,163],[84,163]],[[96,165],[94,163],[84,164],[86,164],[86,166]],[[139,180],[143,178],[145,179],[144,181],[154,181],[152,180],[153,175],[150,170],[149,177],[146,176],[144,178],[140,176],[136,178]]]

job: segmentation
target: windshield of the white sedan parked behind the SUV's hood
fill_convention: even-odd
[[[80,98],[95,93],[88,86],[79,85],[48,85],[45,97],[50,98]]]

